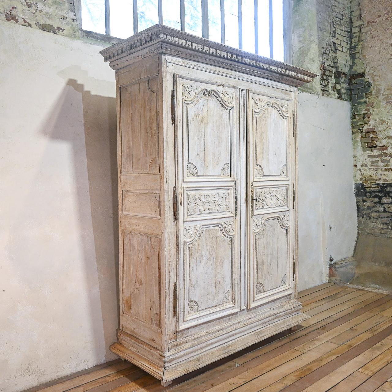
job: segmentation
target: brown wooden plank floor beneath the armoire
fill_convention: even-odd
[[[29,392],[392,391],[392,295],[332,283],[299,295],[310,318],[296,332],[260,342],[170,387],[117,360]]]

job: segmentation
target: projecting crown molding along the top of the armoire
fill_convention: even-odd
[[[154,47],[153,51],[151,51],[152,47]],[[111,63],[112,68],[119,69],[130,64],[132,59],[157,51],[175,53],[179,57],[199,58],[199,61],[208,59],[212,63],[226,63],[228,68],[234,69],[241,69],[241,65],[243,65],[247,69],[253,69],[257,74],[266,77],[275,76],[273,79],[284,80],[285,83],[297,87],[311,82],[314,77],[318,76],[290,64],[248,53],[160,24],[107,47],[100,51],[100,54],[105,61]],[[290,80],[292,80],[291,83]]]

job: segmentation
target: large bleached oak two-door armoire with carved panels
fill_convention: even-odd
[[[296,89],[313,73],[163,25],[116,70],[120,328],[162,380],[293,327]]]

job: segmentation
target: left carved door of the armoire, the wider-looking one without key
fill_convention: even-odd
[[[239,91],[176,76],[178,330],[240,310]]]

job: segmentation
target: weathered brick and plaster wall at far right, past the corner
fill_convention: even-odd
[[[352,0],[351,19],[358,230],[392,236],[392,2]]]

